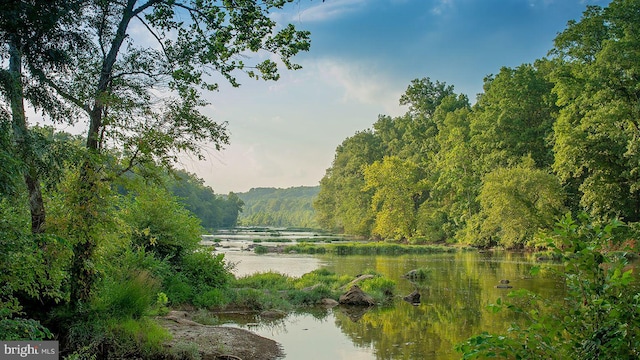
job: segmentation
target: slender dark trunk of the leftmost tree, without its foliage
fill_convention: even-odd
[[[34,164],[33,149],[29,141],[29,129],[24,111],[24,89],[22,86],[22,54],[14,38],[9,43],[9,74],[11,83],[7,91],[11,104],[11,120],[13,136],[24,167],[24,182],[29,193],[29,209],[31,211],[31,232],[44,232],[45,208],[40,191],[40,179]]]

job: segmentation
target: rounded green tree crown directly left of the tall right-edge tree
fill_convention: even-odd
[[[511,166],[523,156],[531,156],[538,168],[551,166],[557,109],[553,84],[545,79],[546,65],[538,61],[503,67],[498,75],[485,78],[471,118],[471,143],[480,158],[477,171]]]

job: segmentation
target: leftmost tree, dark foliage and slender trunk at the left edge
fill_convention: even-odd
[[[8,68],[0,68],[0,92],[8,104],[12,146],[28,191],[31,231],[44,232],[46,212],[37,166],[41,149],[27,124],[25,100],[53,120],[69,117],[68,107],[33,83],[34,73],[43,69],[64,70],[69,52],[81,47],[77,32],[70,30],[79,1],[15,1],[0,11],[0,57],[8,58]],[[26,73],[25,73],[26,71]],[[15,164],[15,162],[14,162]]]

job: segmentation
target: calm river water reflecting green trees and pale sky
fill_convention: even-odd
[[[496,288],[501,279],[509,279],[513,289],[547,297],[561,298],[564,293],[549,271],[531,278],[529,270],[535,262],[524,254],[255,255],[240,250],[247,244],[217,250],[236,264],[237,276],[264,271],[300,276],[324,267],[355,277],[375,270],[395,280],[397,294],[404,296],[414,285],[401,278],[403,274],[432,269],[431,279],[419,286],[422,303],[418,306],[398,299],[393,306],[368,311],[313,309],[275,322],[261,322],[255,316],[220,318],[228,326],[247,328],[279,342],[286,359],[458,359],[455,344],[482,331],[504,333],[516,320],[509,313],[495,314],[487,308],[509,291]]]

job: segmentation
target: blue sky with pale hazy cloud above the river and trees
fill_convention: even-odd
[[[183,167],[218,194],[318,185],[336,147],[378,115],[406,109],[412,79],[453,85],[474,101],[502,66],[544,57],[567,21],[609,0],[300,0],[274,14],[311,31],[303,66],[278,82],[241,79],[207,95],[231,144]],[[256,57],[268,56],[258,54]]]

